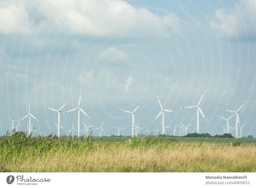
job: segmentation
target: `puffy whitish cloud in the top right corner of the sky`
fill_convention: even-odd
[[[234,2],[228,10],[219,8],[213,17],[213,25],[222,36],[230,38],[255,38],[256,1]],[[249,39],[249,40],[250,40]]]

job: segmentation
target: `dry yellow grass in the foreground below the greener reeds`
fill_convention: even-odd
[[[128,143],[59,146],[48,152],[24,148],[2,161],[15,172],[255,172],[256,147],[218,144]],[[15,150],[14,150],[15,151]],[[3,167],[2,167],[3,168]]]

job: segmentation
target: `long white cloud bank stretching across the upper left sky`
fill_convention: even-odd
[[[115,27],[116,31],[106,33],[106,36],[128,34],[138,27],[130,25],[150,24],[155,27],[168,27],[162,21],[178,27],[179,19],[169,14],[158,16],[148,9],[133,8],[121,0],[104,1],[15,1],[5,3],[0,8],[2,18],[0,32],[9,29],[11,33],[35,34],[39,31],[43,35],[52,36],[59,33],[97,35]],[[35,17],[36,21],[35,21]],[[124,27],[122,27],[124,26]],[[128,27],[126,27],[128,26]],[[64,35],[65,36],[65,35]],[[103,35],[104,36],[104,35]],[[55,37],[55,36],[53,36]],[[66,37],[66,36],[65,36]]]

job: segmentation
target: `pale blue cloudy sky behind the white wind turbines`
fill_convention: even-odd
[[[239,111],[242,136],[256,136],[256,2],[243,1],[38,1],[0,3],[0,135],[30,111],[37,135],[57,134],[57,113],[78,106],[99,135],[131,135],[131,114],[145,134],[161,130],[157,95],[165,109],[167,133],[176,123],[196,132],[221,134],[231,112]],[[77,128],[77,111],[60,116],[61,134]],[[27,119],[19,130],[27,128]],[[15,123],[16,125],[16,123]],[[235,126],[235,118],[230,119]],[[82,132],[80,133],[82,134]],[[176,133],[177,134],[177,133]],[[232,131],[235,135],[235,131]]]

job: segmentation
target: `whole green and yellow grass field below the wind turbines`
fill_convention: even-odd
[[[0,149],[0,172],[256,172],[256,139],[16,133]]]

